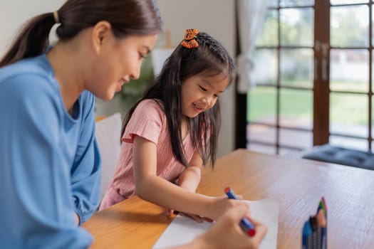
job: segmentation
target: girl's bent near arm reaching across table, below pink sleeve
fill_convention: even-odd
[[[133,161],[136,193],[145,201],[213,219],[241,203],[224,196],[209,197],[195,194],[157,176],[156,144],[142,137],[134,138]]]

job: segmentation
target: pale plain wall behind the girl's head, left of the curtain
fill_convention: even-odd
[[[234,0],[156,0],[164,28],[170,31],[172,45],[179,43],[186,28],[198,28],[217,38],[230,55],[235,54]],[[165,38],[160,46],[165,44]],[[221,99],[222,128],[219,136],[218,156],[234,149],[234,88],[229,88]]]

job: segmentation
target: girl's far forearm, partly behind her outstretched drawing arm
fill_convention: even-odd
[[[202,158],[199,152],[194,152],[191,161],[189,161],[189,166],[182,171],[178,177],[178,185],[183,189],[194,192],[199,186],[200,179],[202,176]]]

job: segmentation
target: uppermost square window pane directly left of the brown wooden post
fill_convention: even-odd
[[[281,9],[280,15],[282,46],[313,46],[312,8]]]

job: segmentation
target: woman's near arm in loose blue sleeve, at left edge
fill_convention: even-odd
[[[92,237],[74,221],[61,104],[43,80],[19,75],[0,84],[1,246],[86,248]]]

